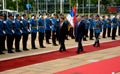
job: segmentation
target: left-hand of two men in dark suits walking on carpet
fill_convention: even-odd
[[[67,25],[64,22],[64,17],[60,18],[60,26],[59,26],[59,43],[60,43],[60,49],[59,51],[66,51],[65,48],[65,38],[67,33]]]

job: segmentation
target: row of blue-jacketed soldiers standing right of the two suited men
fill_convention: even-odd
[[[94,15],[88,16],[82,16],[84,23],[85,23],[85,36],[83,38],[84,41],[86,41],[86,37],[88,37],[89,34],[89,39],[93,40],[94,36]],[[100,31],[102,32],[102,38],[106,37],[112,37],[112,40],[115,40],[116,33],[117,33],[117,28],[118,28],[118,35],[120,36],[120,17],[118,15],[107,15],[107,16],[99,16],[99,21],[100,21]]]

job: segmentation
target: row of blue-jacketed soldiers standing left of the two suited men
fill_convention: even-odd
[[[60,15],[60,17],[63,16],[63,14]],[[46,37],[47,44],[51,44],[49,39],[52,36],[52,44],[54,46],[58,46],[56,41],[59,39],[59,25],[60,18],[57,14],[54,14],[52,18],[50,18],[49,14],[46,14],[46,18],[44,18],[43,14],[40,14],[38,18],[36,15],[32,15],[30,19],[27,19],[26,14],[23,14],[22,16],[17,14],[16,18],[14,18],[12,14],[8,14],[8,19],[6,20],[4,20],[4,16],[0,14],[0,54],[4,54],[3,50],[5,50],[5,40],[7,43],[8,53],[14,53],[13,41],[15,41],[15,51],[21,52],[21,38],[23,50],[28,51],[27,41],[29,34],[31,34],[32,49],[37,49],[35,44],[37,32],[39,33],[38,40],[40,48],[45,48],[43,44],[44,36]]]

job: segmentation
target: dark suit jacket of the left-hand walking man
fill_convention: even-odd
[[[59,27],[59,40],[65,40],[67,30],[67,24],[64,22],[62,27]]]

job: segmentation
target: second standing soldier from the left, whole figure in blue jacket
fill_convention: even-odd
[[[6,35],[7,35],[7,49],[8,53],[14,53],[13,49],[13,40],[14,40],[14,25],[15,21],[13,21],[13,15],[10,13],[8,14],[8,19],[6,21]]]

